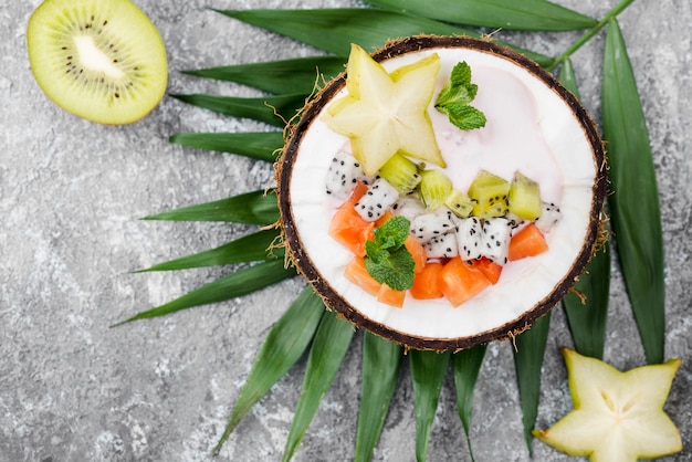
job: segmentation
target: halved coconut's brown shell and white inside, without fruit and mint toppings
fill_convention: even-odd
[[[424,35],[391,42],[371,56],[396,73],[433,54],[440,66],[436,95],[453,67],[465,62],[478,85],[473,106],[487,120],[483,128],[460,130],[430,103],[426,113],[443,158],[441,170],[462,191],[481,170],[505,179],[521,171],[536,180],[542,200],[562,210],[559,222],[545,233],[547,251],[505,264],[495,284],[459,306],[406,295],[403,305],[394,307],[350,282],[345,269],[353,252],[329,235],[342,203],[325,188],[333,159],[352,146],[326,124],[329,107],[348,96],[347,73],[308,103],[277,175],[290,258],[326,305],[406,347],[445,350],[516,335],[562,300],[594,252],[607,180],[602,143],[586,111],[524,55],[490,41]]]

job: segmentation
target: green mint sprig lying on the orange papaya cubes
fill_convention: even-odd
[[[411,222],[403,217],[392,217],[373,231],[375,240],[365,242],[365,269],[375,281],[395,291],[406,291],[413,285],[416,262],[403,243]]]

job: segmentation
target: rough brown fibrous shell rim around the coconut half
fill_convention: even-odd
[[[375,61],[381,62],[401,54],[430,48],[466,48],[490,53],[512,61],[524,67],[536,78],[544,82],[552,88],[572,109],[575,117],[580,122],[594,154],[594,162],[597,168],[597,176],[593,187],[591,220],[581,245],[581,250],[572,270],[565,274],[563,280],[556,284],[555,290],[544,300],[524,312],[521,316],[491,330],[481,332],[478,335],[459,338],[430,338],[405,334],[376,323],[365,317],[360,312],[349,305],[329,286],[322,274],[315,269],[304,251],[301,237],[294,227],[293,212],[291,207],[290,183],[293,172],[293,164],[297,156],[301,140],[310,129],[312,122],[319,112],[333,99],[346,85],[346,74],[342,73],[329,81],[303,108],[297,124],[292,125],[286,132],[286,143],[283,154],[276,161],[279,209],[281,212],[281,225],[286,245],[286,255],[298,272],[302,273],[315,292],[324,300],[328,308],[336,311],[358,328],[365,328],[373,334],[400,344],[406,348],[427,350],[460,350],[476,345],[486,344],[492,340],[504,340],[514,338],[526,330],[541,316],[549,312],[559,301],[572,290],[575,281],[584,271],[584,267],[594,254],[595,244],[598,241],[599,227],[604,200],[607,193],[607,162],[602,140],[598,134],[596,125],[589,117],[586,109],[579,104],[577,98],[566,90],[551,73],[542,69],[536,62],[515,52],[514,50],[497,45],[490,40],[479,40],[468,36],[439,36],[439,35],[415,35],[388,42],[382,49],[373,53]]]

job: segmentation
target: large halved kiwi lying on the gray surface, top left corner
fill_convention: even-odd
[[[27,48],[41,90],[88,120],[133,123],[164,97],[164,41],[129,0],[46,0],[29,20]]]

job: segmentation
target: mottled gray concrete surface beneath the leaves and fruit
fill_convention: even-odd
[[[171,93],[252,95],[186,77],[200,66],[292,57],[314,51],[206,10],[349,6],[347,0],[139,0],[168,48]],[[615,1],[559,0],[594,17]],[[264,186],[265,165],[168,144],[180,132],[238,132],[258,125],[172,98],[132,126],[97,126],[60,111],[35,85],[24,28],[38,0],[0,7],[0,461],[207,461],[268,329],[298,293],[290,281],[228,303],[108,328],[222,274],[133,270],[212,248],[241,227],[139,218]],[[621,17],[660,181],[667,260],[667,356],[682,357],[665,409],[691,460],[692,409],[692,50],[686,0],[636,1]],[[500,33],[548,54],[578,34]],[[597,116],[602,35],[575,55],[581,93]],[[261,50],[261,55],[258,55]],[[643,354],[615,267],[606,358],[619,368]],[[569,408],[558,348],[569,345],[556,311],[544,368],[538,427]],[[360,336],[326,395],[295,460],[353,454]],[[279,460],[304,364],[284,377],[216,459]],[[374,459],[411,461],[412,390],[403,376]],[[449,379],[449,378],[448,378]],[[479,461],[527,461],[511,345],[489,349],[478,384],[472,438]],[[564,461],[537,443],[534,460]],[[448,380],[429,460],[469,460]]]

